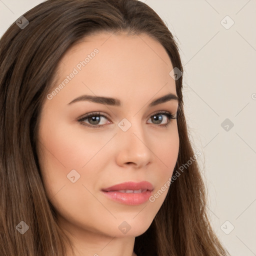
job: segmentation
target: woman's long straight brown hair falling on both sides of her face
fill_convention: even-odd
[[[42,183],[36,143],[41,106],[66,50],[93,32],[146,33],[183,72],[178,46],[161,18],[137,0],[47,0],[23,15],[0,39],[0,253],[65,255],[67,237]],[[24,19],[22,19],[24,22]],[[19,23],[22,23],[20,21]],[[182,76],[175,80],[179,153],[173,171],[194,155],[183,111]],[[196,160],[171,182],[149,228],[135,238],[138,256],[227,255],[210,226]],[[24,221],[29,231],[16,230]],[[23,222],[21,222],[22,224]]]

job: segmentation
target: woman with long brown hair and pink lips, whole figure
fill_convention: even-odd
[[[0,40],[1,255],[227,255],[160,17],[47,0]]]

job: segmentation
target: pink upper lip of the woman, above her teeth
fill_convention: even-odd
[[[116,190],[125,190],[125,189],[130,189],[130,190],[138,190],[138,189],[147,189],[152,191],[153,190],[153,185],[148,182],[148,181],[141,181],[141,182],[123,182],[120,184],[116,184],[113,186],[109,186],[107,188],[103,188],[103,191],[116,191]]]

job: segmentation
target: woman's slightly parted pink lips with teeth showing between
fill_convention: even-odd
[[[128,205],[139,205],[146,202],[152,194],[153,186],[147,181],[124,182],[101,189],[109,199]]]

